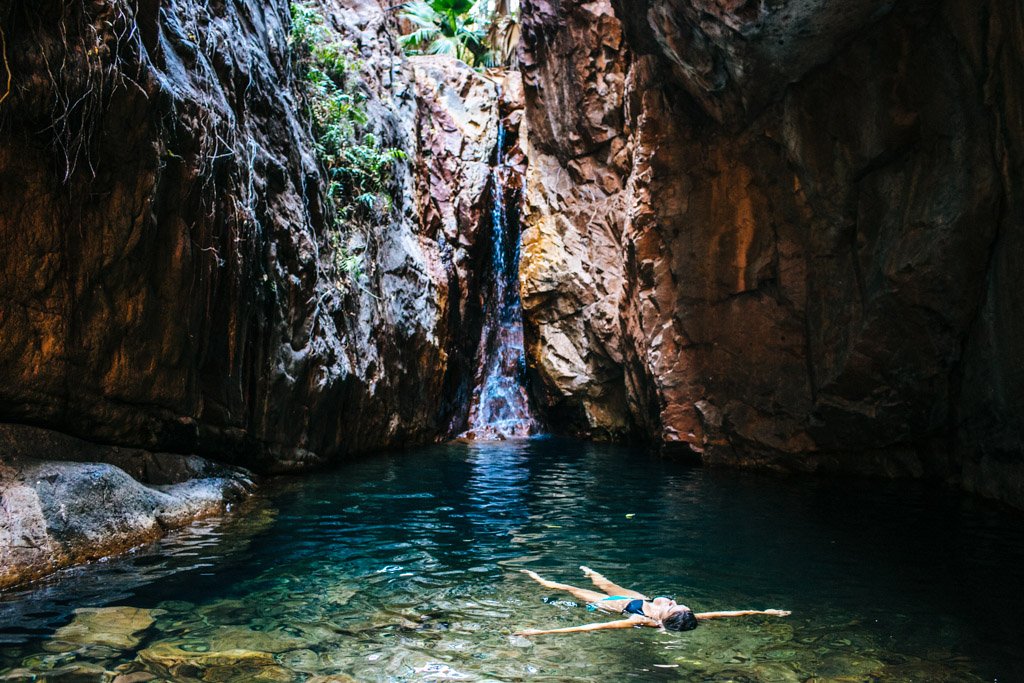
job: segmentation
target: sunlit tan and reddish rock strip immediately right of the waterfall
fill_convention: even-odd
[[[534,386],[552,425],[623,437],[629,52],[606,2],[534,1],[522,12],[520,289]]]

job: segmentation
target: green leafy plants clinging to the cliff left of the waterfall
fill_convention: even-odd
[[[394,163],[406,153],[384,146],[367,128],[366,94],[354,49],[340,41],[311,5],[291,4],[290,44],[312,125],[316,156],[327,172],[334,216],[328,243],[335,268],[358,275],[360,259],[345,247],[347,228],[367,227],[390,213]],[[339,285],[340,286],[340,285]]]

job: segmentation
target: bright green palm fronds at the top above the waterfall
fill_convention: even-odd
[[[418,0],[401,17],[408,54],[447,54],[473,67],[510,66],[518,41],[516,0]]]

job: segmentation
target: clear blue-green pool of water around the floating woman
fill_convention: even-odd
[[[683,634],[512,636],[611,618],[518,571],[586,585],[582,563],[698,611],[794,613]],[[461,443],[270,482],[244,514],[7,595],[0,672],[1019,681],[1022,587],[1021,515],[956,493],[708,471],[559,439]],[[152,609],[152,626],[120,644],[58,630],[76,608],[117,605]]]

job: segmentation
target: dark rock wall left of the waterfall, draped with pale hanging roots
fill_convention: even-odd
[[[471,104],[468,133],[438,128],[453,104],[431,99],[438,79],[462,79],[452,89],[464,94],[475,77],[423,72],[418,100],[386,4],[322,3],[357,53],[374,131],[411,157],[390,217],[349,239],[358,276],[329,265],[285,0],[0,9],[12,77],[0,104],[0,419],[261,471],[428,441],[459,422],[460,364],[478,338],[465,263],[486,209],[459,169],[469,180],[439,203],[457,215],[427,212],[421,226],[439,185],[416,147],[488,158],[497,106]]]

